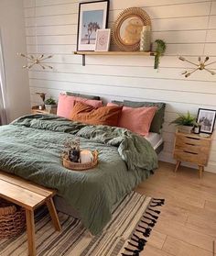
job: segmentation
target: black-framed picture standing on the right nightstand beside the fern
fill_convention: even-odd
[[[216,110],[199,108],[197,122],[200,132],[211,134],[214,129]]]

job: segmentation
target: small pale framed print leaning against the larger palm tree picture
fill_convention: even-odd
[[[110,48],[111,29],[98,29],[96,33],[95,51],[108,51]]]

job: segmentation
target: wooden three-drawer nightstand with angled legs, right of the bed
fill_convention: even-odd
[[[181,161],[189,161],[199,166],[200,178],[207,165],[211,149],[211,135],[201,137],[193,133],[176,133],[173,157],[177,160],[175,173]]]

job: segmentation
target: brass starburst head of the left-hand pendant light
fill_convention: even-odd
[[[49,56],[45,56],[45,54],[37,54],[36,56],[33,56],[32,54],[30,55],[26,55],[24,53],[17,53],[18,56],[24,57],[27,60],[29,60],[30,62],[27,65],[23,66],[23,69],[31,69],[33,66],[38,65],[40,66],[43,70],[45,70],[46,68],[49,68],[50,70],[53,69],[52,66],[49,66],[48,64],[43,63],[42,61],[45,61],[47,59],[52,58],[52,55]]]

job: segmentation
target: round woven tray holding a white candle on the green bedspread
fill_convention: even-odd
[[[63,166],[73,171],[85,171],[92,169],[94,166],[98,164],[98,151],[93,151],[92,155],[93,160],[86,163],[69,161],[65,157],[63,157]]]

